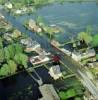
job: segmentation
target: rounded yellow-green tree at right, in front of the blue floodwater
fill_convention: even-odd
[[[92,41],[92,36],[89,33],[80,32],[78,34],[78,39],[81,41],[85,41],[85,43],[88,45]]]

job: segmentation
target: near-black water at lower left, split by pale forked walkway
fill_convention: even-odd
[[[36,71],[42,77],[44,83],[51,83],[46,69],[39,68]],[[36,77],[35,74],[33,75]],[[30,86],[31,88],[28,90]],[[31,93],[29,93],[30,91]],[[11,97],[14,98],[12,100],[37,100],[41,97],[41,94],[38,90],[38,84],[26,72],[23,72],[0,81],[0,100],[10,100]]]

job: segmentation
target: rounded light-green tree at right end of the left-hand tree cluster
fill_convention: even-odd
[[[28,57],[23,53],[18,53],[15,55],[14,60],[17,64],[21,64],[27,68]]]

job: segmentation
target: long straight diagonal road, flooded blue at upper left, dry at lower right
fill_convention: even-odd
[[[72,72],[76,74],[76,76],[82,81],[83,85],[91,92],[91,94],[95,96],[96,100],[98,100],[98,89],[89,79],[89,77],[85,74],[85,70],[80,69],[80,65],[77,62],[75,62],[71,57],[68,57],[66,54],[64,55],[59,50],[55,50],[45,37],[41,37],[29,30],[26,30],[23,26],[23,23],[20,23],[17,20],[17,18],[14,18],[9,13],[6,13],[4,11],[2,13],[5,16],[6,20],[8,20],[14,27],[19,29],[21,32],[30,35],[30,37],[32,37],[33,40],[39,42],[42,45],[42,47],[45,48],[47,51],[51,51],[54,54],[56,51],[59,52],[63,64],[66,65]]]

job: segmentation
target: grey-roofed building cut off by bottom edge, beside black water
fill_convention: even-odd
[[[60,100],[52,84],[42,85],[39,87],[39,90],[43,96],[39,100]]]

